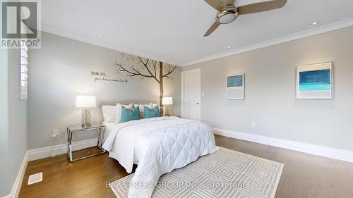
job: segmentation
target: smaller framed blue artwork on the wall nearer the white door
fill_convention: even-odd
[[[227,75],[226,99],[244,99],[244,73]]]

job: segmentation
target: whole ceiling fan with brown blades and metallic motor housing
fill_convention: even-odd
[[[287,0],[270,0],[245,6],[235,6],[234,0],[205,0],[210,6],[218,12],[216,21],[211,25],[203,37],[208,37],[221,24],[231,23],[238,18],[239,15],[259,13],[270,11],[277,8],[282,8],[287,3]]]

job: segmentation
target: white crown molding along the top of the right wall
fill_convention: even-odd
[[[191,60],[191,61],[186,61],[184,63],[181,63],[180,66],[181,67],[190,66],[190,65],[193,65],[193,64],[196,64],[196,63],[202,63],[202,62],[205,62],[205,61],[210,61],[210,60],[213,60],[213,59],[216,59],[216,58],[222,58],[222,57],[225,57],[225,56],[231,56],[231,55],[234,55],[234,54],[240,54],[240,53],[245,52],[245,51],[251,51],[251,50],[254,50],[254,49],[260,49],[260,48],[263,48],[263,47],[269,47],[269,46],[272,46],[272,45],[275,45],[275,44],[281,44],[281,43],[284,43],[284,42],[289,42],[289,41],[296,40],[296,39],[301,39],[301,38],[304,38],[304,37],[310,37],[310,36],[318,35],[318,34],[321,34],[321,33],[324,33],[324,32],[330,32],[330,31],[333,31],[333,30],[339,30],[339,29],[342,29],[342,28],[345,28],[345,27],[350,27],[352,25],[353,25],[353,18],[349,18],[347,20],[342,20],[342,21],[339,21],[337,23],[331,23],[329,25],[323,25],[321,27],[316,27],[316,28],[313,28],[313,29],[310,29],[310,30],[297,32],[297,33],[294,33],[292,35],[278,37],[276,39],[270,39],[270,40],[267,40],[265,42],[260,42],[260,43],[257,43],[257,44],[251,44],[251,45],[246,46],[246,47],[241,47],[241,48],[233,49],[233,50],[230,50],[230,51],[222,52],[222,53],[219,53],[219,54],[213,54],[211,56],[205,56],[203,58],[197,58],[197,59],[194,59],[194,60]]]

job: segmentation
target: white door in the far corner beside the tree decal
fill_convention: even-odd
[[[201,120],[201,69],[181,72],[181,117]]]

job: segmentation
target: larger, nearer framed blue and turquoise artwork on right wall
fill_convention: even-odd
[[[333,99],[333,63],[297,67],[297,99]]]

